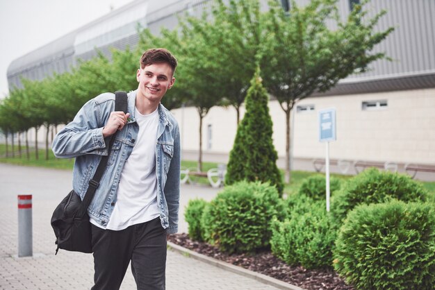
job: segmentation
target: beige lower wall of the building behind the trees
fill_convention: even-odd
[[[387,108],[362,110],[363,101],[386,100]],[[435,164],[435,89],[355,94],[304,99],[297,105],[314,105],[311,112],[294,114],[293,155],[325,157],[325,144],[318,141],[318,110],[336,109],[336,142],[329,146],[332,159],[375,162]],[[285,155],[285,114],[277,101],[270,101],[274,123],[274,146]],[[197,151],[199,118],[195,108],[173,111],[181,126],[183,150]],[[212,147],[207,149],[207,126],[212,125]],[[236,111],[212,108],[204,118],[203,150],[231,151],[236,135]]]

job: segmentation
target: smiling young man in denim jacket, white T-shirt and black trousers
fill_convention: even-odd
[[[110,154],[88,207],[92,289],[119,289],[130,261],[138,289],[165,289],[166,238],[178,227],[180,135],[177,121],[160,102],[174,85],[176,67],[166,49],[145,51],[126,114],[113,112],[114,94],[101,94],[54,139],[56,157],[76,157],[73,188],[82,199],[100,155]],[[104,138],[115,133],[108,153]]]

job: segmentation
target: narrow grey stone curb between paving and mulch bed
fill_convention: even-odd
[[[247,278],[255,279],[259,282],[262,282],[264,284],[268,284],[273,287],[277,287],[278,289],[284,289],[284,290],[304,290],[300,287],[297,287],[293,284],[289,284],[286,282],[283,282],[281,280],[277,280],[274,278],[271,278],[267,275],[263,275],[261,273],[256,273],[254,271],[249,271],[245,268],[242,268],[240,266],[234,266],[232,264],[219,261],[217,259],[213,259],[211,257],[208,257],[206,255],[199,254],[193,250],[189,250],[187,248],[183,248],[182,246],[179,246],[177,244],[174,244],[170,241],[167,241],[167,246],[171,250],[174,250],[175,252],[181,253],[182,255],[185,255],[186,257],[192,257],[193,259],[197,259],[201,262],[205,262],[207,264],[211,264],[213,266],[217,266],[217,268],[222,268],[224,270],[243,275]]]

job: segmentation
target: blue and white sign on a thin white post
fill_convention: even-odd
[[[325,175],[326,175],[326,203],[329,212],[329,141],[336,140],[336,110],[325,109],[319,111],[319,141],[326,142]]]

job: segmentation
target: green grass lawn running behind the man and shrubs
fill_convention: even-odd
[[[11,149],[9,146],[9,155],[11,155]],[[29,159],[26,157],[26,150],[25,147],[22,147],[22,156],[19,157],[17,153],[17,146],[15,146],[15,157],[6,157],[6,145],[0,144],[0,162],[2,163],[9,163],[9,164],[18,164],[23,166],[31,166],[31,167],[48,167],[48,168],[54,168],[54,169],[64,169],[64,170],[72,170],[72,167],[74,166],[74,159],[59,159],[54,157],[54,154],[51,150],[49,150],[49,159],[45,159],[45,149],[42,148],[38,151],[39,153],[39,159],[37,160],[35,157],[35,150],[32,148],[30,152]],[[181,167],[188,168],[191,171],[196,171],[197,169],[197,162],[196,161],[190,161],[190,160],[182,160],[181,161]],[[203,162],[202,164],[202,171],[206,172],[209,169],[216,168],[217,163],[214,162]],[[297,191],[299,186],[301,185],[302,181],[309,177],[313,176],[315,172],[308,172],[308,171],[292,171],[291,175],[291,181],[290,183],[286,183],[284,185],[284,193],[285,194],[293,194]],[[283,172],[284,176],[284,172]],[[340,178],[343,180],[347,180],[349,178],[352,178],[352,176],[343,176],[340,174],[331,174],[331,176],[334,176],[336,178]],[[192,182],[197,182],[201,184],[208,185],[207,178],[202,177],[190,177]],[[435,202],[435,182],[421,182],[423,187],[429,191],[430,198],[432,201]]]

